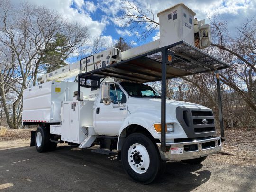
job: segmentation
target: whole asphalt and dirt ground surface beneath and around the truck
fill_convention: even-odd
[[[29,140],[3,139],[0,141],[0,190],[255,192],[255,161],[248,155],[243,160],[239,152],[238,156],[231,152],[224,150],[226,155],[212,155],[199,165],[167,163],[160,179],[141,185],[129,179],[115,155],[95,154],[90,149],[66,144],[53,152],[37,153],[35,147],[29,147]]]

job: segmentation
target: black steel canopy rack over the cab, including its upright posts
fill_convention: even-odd
[[[82,60],[80,60],[80,69],[83,69]],[[218,73],[218,70],[228,67],[230,67],[229,64],[204,53],[184,41],[180,41],[99,69],[95,69],[94,64],[94,70],[89,72],[87,72],[86,66],[86,72],[81,73],[80,71],[78,75],[78,97],[81,86],[97,89],[101,83],[100,79],[107,76],[140,83],[161,81],[161,150],[166,152],[171,147],[171,145],[166,145],[165,133],[166,79],[211,71]],[[220,133],[222,140],[224,140],[219,75],[216,75],[216,77]],[[91,82],[90,84],[87,80],[94,80],[94,83]]]

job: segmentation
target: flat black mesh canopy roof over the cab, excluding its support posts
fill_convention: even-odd
[[[93,75],[96,78],[102,78],[109,76],[140,83],[160,81],[162,79],[163,49],[167,49],[167,55],[172,56],[171,62],[166,59],[167,79],[230,67],[229,64],[180,41],[116,64],[82,73],[80,77],[86,78]]]

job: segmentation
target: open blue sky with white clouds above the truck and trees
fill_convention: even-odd
[[[20,0],[11,0],[14,5],[18,5]],[[114,42],[123,37],[132,45],[138,46],[146,42],[157,39],[158,30],[146,39],[145,42],[137,42],[136,34],[129,34],[120,30],[119,21],[115,18],[121,10],[120,0],[27,0],[36,5],[43,5],[63,14],[68,21],[79,22],[88,26],[91,37],[101,36],[106,47],[110,47]],[[199,20],[211,17],[218,11],[222,18],[228,20],[228,29],[232,36],[236,35],[238,27],[243,18],[256,16],[256,0],[140,0],[144,6],[150,6],[155,14],[163,9],[183,2],[197,15]],[[207,22],[207,20],[206,20]]]

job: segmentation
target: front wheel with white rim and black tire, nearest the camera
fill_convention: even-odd
[[[141,133],[133,133],[126,138],[121,158],[126,173],[143,184],[154,181],[165,165],[154,143]]]

